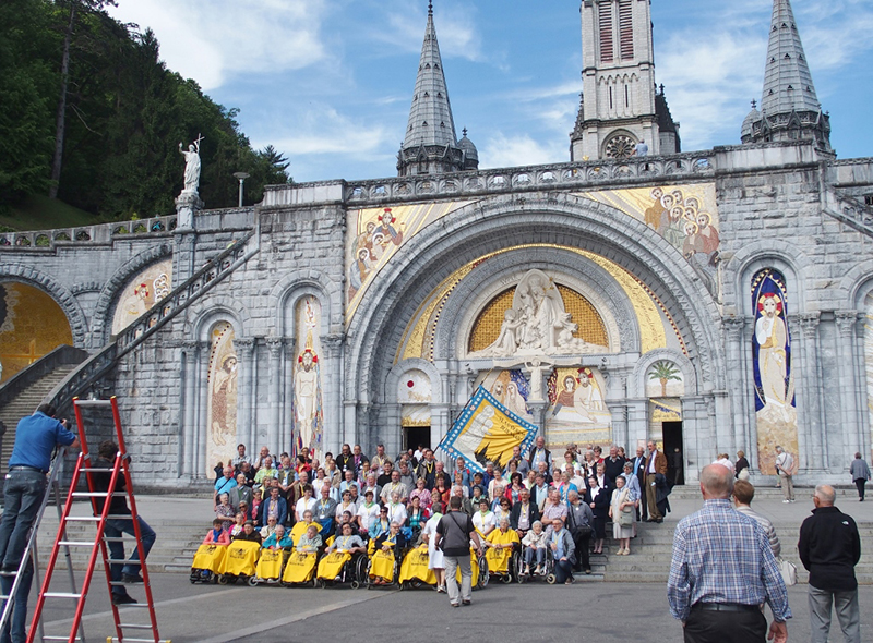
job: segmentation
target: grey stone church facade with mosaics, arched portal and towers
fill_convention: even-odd
[[[431,11],[398,177],[3,235],[4,379],[16,320],[67,324],[92,356],[58,395],[118,395],[155,486],[238,442],[436,446],[479,385],[559,452],[653,438],[687,481],[738,450],[772,475],[778,444],[845,482],[871,453],[873,161],[830,149],[788,0],[761,111],[710,150],[680,151],[646,0],[584,0],[582,28],[570,162],[478,169]]]

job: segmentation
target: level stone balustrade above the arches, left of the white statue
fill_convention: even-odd
[[[26,247],[50,251],[58,245],[106,244],[110,243],[112,239],[166,235],[174,230],[176,230],[176,215],[112,223],[94,223],[76,228],[3,232],[0,233],[0,252],[7,248]]]

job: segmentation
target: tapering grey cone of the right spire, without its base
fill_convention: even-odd
[[[767,114],[822,109],[789,0],[773,2],[761,109]]]

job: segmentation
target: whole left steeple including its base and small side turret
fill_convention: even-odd
[[[478,165],[478,159],[467,158],[458,145],[431,1],[428,2],[428,26],[421,46],[409,121],[397,155],[397,174],[457,172],[475,170]]]

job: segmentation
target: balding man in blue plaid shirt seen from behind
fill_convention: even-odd
[[[767,635],[761,609],[773,609],[770,638],[788,640],[791,618],[785,582],[767,535],[730,504],[733,474],[720,464],[701,472],[703,509],[675,529],[667,583],[670,612],[686,643],[751,643]]]

